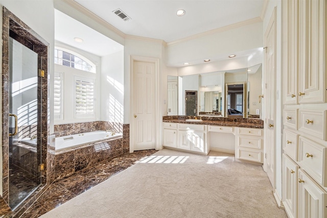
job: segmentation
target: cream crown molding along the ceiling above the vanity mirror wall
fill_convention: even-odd
[[[233,23],[231,25],[221,27],[221,28],[218,28],[218,29],[215,29],[215,30],[210,30],[210,31],[207,31],[207,32],[195,34],[193,36],[185,37],[185,38],[182,38],[182,39],[179,39],[179,40],[176,40],[176,41],[168,42],[167,45],[173,45],[173,44],[189,41],[189,40],[192,40],[192,39],[197,39],[197,38],[200,38],[200,37],[212,35],[212,34],[219,33],[219,32],[224,32],[224,31],[227,31],[227,30],[243,27],[243,26],[250,25],[250,24],[253,24],[253,23],[257,23],[257,22],[262,22],[261,17],[255,17],[255,18],[252,18],[252,19],[248,19],[248,20],[244,20],[244,21],[241,21],[241,22]]]

